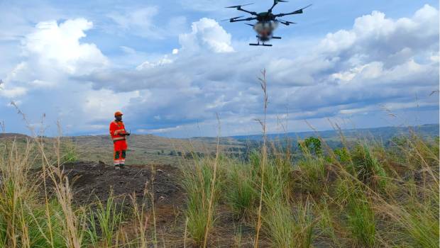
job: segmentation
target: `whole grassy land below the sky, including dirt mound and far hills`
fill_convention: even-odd
[[[135,135],[136,162],[116,171],[108,137],[4,134],[0,244],[439,247],[438,136],[340,137],[246,147]]]

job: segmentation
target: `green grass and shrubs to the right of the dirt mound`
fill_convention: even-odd
[[[266,148],[264,174],[263,152],[254,150],[247,162],[224,159],[216,205],[227,206],[235,222],[256,230],[264,176],[260,244],[439,247],[439,143],[417,135],[400,141],[384,147],[358,140],[349,147],[332,150],[324,145],[326,150],[322,150],[321,140],[309,139],[299,142],[302,154],[295,159],[272,145]],[[207,162],[204,167],[211,168]],[[186,172],[184,180],[192,173]],[[209,182],[210,175],[204,173],[199,181]],[[206,200],[194,201],[194,196],[207,193],[209,184],[186,188],[192,192],[187,211],[207,204]],[[188,219],[188,227],[206,222],[207,215],[201,212],[194,213],[198,218]],[[221,214],[214,216],[221,218]],[[191,236],[196,244],[202,243],[204,228]]]

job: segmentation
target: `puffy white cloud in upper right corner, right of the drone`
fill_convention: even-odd
[[[429,5],[419,9],[412,18],[392,20],[385,13],[373,11],[356,18],[351,30],[329,33],[321,41],[323,54],[363,54],[363,59],[381,59],[385,64],[407,60],[417,52],[438,46],[439,11]],[[433,49],[435,47],[431,47]],[[400,56],[399,56],[400,55]]]

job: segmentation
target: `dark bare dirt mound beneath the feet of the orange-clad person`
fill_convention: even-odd
[[[94,203],[97,198],[106,201],[111,189],[115,196],[127,196],[126,204],[129,204],[128,195],[133,192],[136,198],[143,198],[145,184],[150,193],[154,188],[158,204],[182,200],[182,190],[177,182],[178,169],[170,165],[126,166],[116,170],[104,163],[73,162],[63,167],[72,184],[75,205]]]

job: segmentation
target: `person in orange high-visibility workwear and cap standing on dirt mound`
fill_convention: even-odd
[[[126,162],[127,141],[126,136],[130,135],[126,131],[122,122],[122,112],[114,113],[115,120],[110,123],[110,137],[114,145],[113,164],[115,169],[123,169]]]

